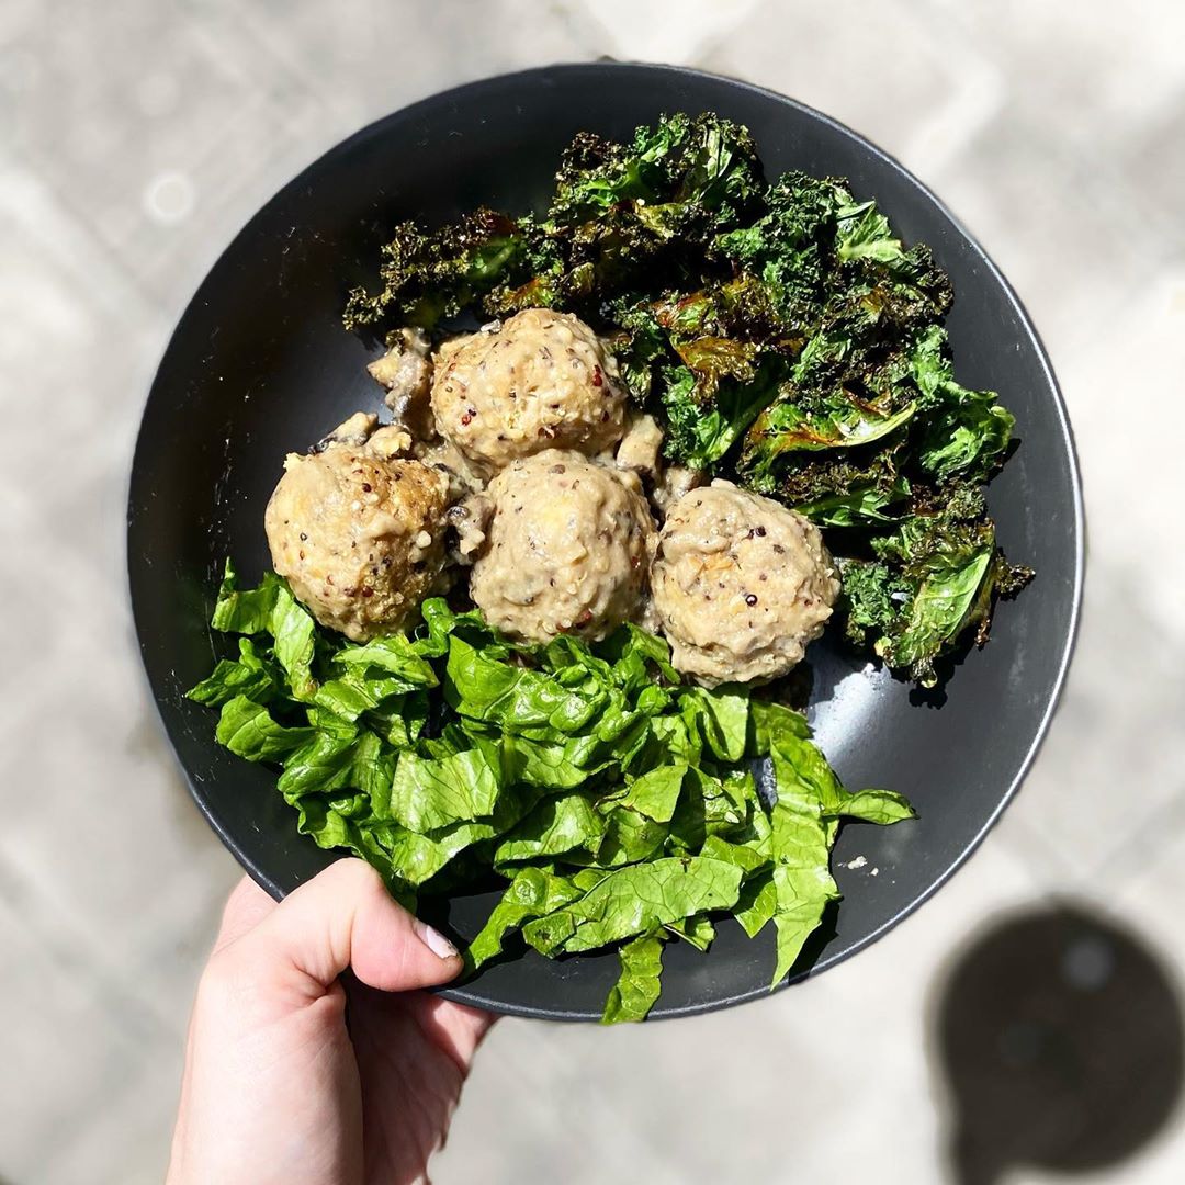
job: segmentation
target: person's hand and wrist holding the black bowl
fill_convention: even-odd
[[[424,1180],[492,1018],[412,989],[460,969],[361,860],[278,905],[244,878],[198,986],[168,1185]]]

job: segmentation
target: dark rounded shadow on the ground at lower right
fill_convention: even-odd
[[[1181,1090],[1181,1004],[1136,935],[1072,903],[995,922],[956,956],[933,1008],[949,1098],[947,1171],[1120,1165]]]

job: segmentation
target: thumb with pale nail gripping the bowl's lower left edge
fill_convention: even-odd
[[[256,981],[305,987],[314,998],[346,968],[384,992],[443,984],[461,969],[453,943],[397,904],[358,859],[338,860],[289,893],[224,954]]]

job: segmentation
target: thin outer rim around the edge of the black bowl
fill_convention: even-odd
[[[1070,427],[1069,415],[1066,412],[1065,402],[1062,396],[1057,377],[1053,373],[1049,354],[1045,351],[1045,346],[1042,342],[1036,327],[1033,326],[1032,319],[1029,316],[1027,310],[1021,303],[1020,297],[1017,295],[1012,284],[1005,277],[1004,273],[999,269],[999,267],[997,267],[991,256],[988,256],[988,254],[984,250],[979,241],[967,230],[967,228],[962,224],[962,222],[957,217],[955,217],[955,214],[950,211],[950,209],[946,205],[946,203],[943,203],[941,198],[939,198],[937,194],[934,193],[934,191],[930,190],[923,181],[921,181],[909,169],[907,169],[896,158],[884,152],[882,148],[878,148],[870,140],[865,139],[859,133],[852,130],[846,124],[840,123],[838,120],[832,118],[830,115],[826,115],[822,111],[819,111],[815,108],[809,107],[808,104],[802,103],[798,100],[790,98],[786,95],[770,90],[769,88],[766,87],[758,87],[755,85],[754,83],[748,83],[738,78],[731,78],[726,75],[712,73],[711,71],[706,70],[696,70],[688,66],[662,65],[662,64],[646,63],[646,62],[616,62],[609,59],[601,59],[598,62],[592,62],[592,63],[590,62],[557,63],[553,65],[536,66],[527,70],[512,71],[504,75],[493,75],[486,78],[463,83],[459,87],[449,88],[448,90],[437,91],[433,95],[429,95],[422,100],[416,101],[415,103],[410,103],[406,107],[399,108],[396,111],[390,113],[389,115],[382,116],[380,118],[374,120],[371,123],[367,123],[365,127],[360,128],[358,132],[347,136],[345,140],[339,141],[335,146],[321,153],[315,160],[306,165],[305,168],[300,171],[300,173],[297,173],[290,181],[288,181],[284,186],[277,190],[276,193],[268,199],[268,203],[265,203],[260,211],[252,214],[251,218],[249,218],[246,223],[243,224],[239,231],[226,245],[226,248],[222,252],[219,252],[217,260],[213,262],[213,264],[211,264],[206,275],[203,276],[201,281],[194,289],[193,296],[191,296],[191,300],[187,302],[186,308],[188,308],[190,305],[192,305],[193,297],[196,297],[198,293],[200,293],[203,286],[209,278],[209,275],[212,274],[222,263],[222,261],[235,250],[238,241],[246,233],[251,224],[255,222],[255,218],[258,217],[258,214],[262,212],[263,209],[267,207],[267,205],[270,205],[271,201],[277,200],[284,193],[300,186],[303,182],[306,174],[319,168],[329,158],[337,155],[338,153],[347,150],[356,142],[366,139],[369,136],[372,136],[387,121],[393,120],[396,117],[414,116],[422,109],[427,110],[441,103],[457,102],[467,98],[470,95],[480,94],[486,88],[494,85],[504,85],[507,83],[521,83],[524,85],[524,89],[529,90],[532,81],[542,76],[552,76],[556,73],[565,73],[571,71],[588,72],[588,71],[600,71],[600,70],[603,70],[606,72],[619,72],[619,71],[666,72],[674,77],[711,79],[713,82],[726,83],[728,85],[735,87],[739,90],[749,91],[760,95],[762,97],[773,100],[776,103],[792,108],[799,111],[800,114],[808,116],[811,120],[826,126],[833,133],[838,133],[839,135],[853,141],[864,153],[878,159],[884,166],[886,166],[892,172],[896,172],[901,178],[903,178],[911,186],[914,186],[925,199],[933,203],[933,205],[939,210],[940,213],[942,213],[947,219],[949,219],[955,232],[959,236],[961,236],[962,239],[967,243],[967,245],[974,251],[979,261],[982,263],[984,268],[995,281],[995,283],[999,284],[999,287],[1006,295],[1008,302],[1016,309],[1019,324],[1024,327],[1024,333],[1027,337],[1029,345],[1031,346],[1036,358],[1039,360],[1042,372],[1048,383],[1049,393],[1052,397],[1055,411],[1057,415],[1057,425],[1061,433],[1059,443],[1064,449],[1069,468],[1070,483],[1072,487],[1072,527],[1075,534],[1075,551],[1074,551],[1074,589],[1070,603],[1068,628],[1065,630],[1065,641],[1058,661],[1056,678],[1053,680],[1049,699],[1042,712],[1040,720],[1036,726],[1032,743],[1030,744],[1027,752],[1025,754],[1024,758],[1018,766],[1011,783],[1008,784],[1007,789],[1001,794],[999,803],[997,805],[995,809],[987,816],[982,827],[971,838],[971,840],[966,844],[963,850],[959,853],[959,856],[955,859],[950,861],[950,864],[946,867],[946,870],[940,876],[937,876],[933,882],[930,882],[930,884],[922,892],[920,892],[916,897],[914,897],[907,905],[901,908],[891,917],[888,917],[879,927],[866,934],[863,939],[853,942],[851,946],[846,947],[841,952],[838,952],[832,955],[824,955],[806,972],[792,975],[788,980],[784,980],[782,984],[780,984],[776,988],[773,989],[774,992],[780,992],[786,987],[788,987],[790,984],[799,982],[802,979],[818,974],[819,972],[822,972],[828,967],[832,967],[835,963],[851,957],[857,952],[863,950],[871,943],[876,942],[884,934],[891,930],[895,925],[902,922],[905,917],[908,917],[910,914],[917,910],[922,904],[929,901],[929,898],[935,892],[937,892],[937,890],[941,889],[954,876],[954,873],[957,872],[967,863],[972,853],[984,841],[984,838],[987,835],[987,833],[999,821],[1000,815],[1004,813],[1005,808],[1012,802],[1018,789],[1020,788],[1020,784],[1024,782],[1025,776],[1027,775],[1030,768],[1032,767],[1032,763],[1036,760],[1037,754],[1040,750],[1040,747],[1049,732],[1049,726],[1053,718],[1053,713],[1057,710],[1057,705],[1065,685],[1065,678],[1069,671],[1070,660],[1072,658],[1074,648],[1077,642],[1078,624],[1082,610],[1082,590],[1083,590],[1083,582],[1085,574],[1085,512],[1083,505],[1082,474],[1078,465],[1077,450],[1075,448],[1074,431]],[[184,313],[181,320],[184,320]],[[180,326],[180,324],[181,322],[179,321],[178,327]],[[162,356],[161,366],[164,365],[164,358],[166,356],[167,356],[167,350],[166,354]],[[149,392],[155,386],[158,376],[159,376],[159,369],[158,372],[155,372],[153,376],[153,383],[149,386]],[[133,529],[130,489],[135,487],[137,480],[137,473],[143,467],[143,453],[146,449],[150,447],[152,447],[150,443],[145,440],[143,428],[141,425],[141,429],[137,433],[136,448],[129,474],[129,504],[128,504],[129,533]],[[128,542],[127,537],[124,537],[126,546],[127,542]],[[135,596],[136,576],[133,570],[130,547],[128,547],[127,551],[127,575],[129,579],[129,595],[133,607],[133,616],[137,617],[136,596]],[[1020,603],[1023,604],[1023,602]],[[136,628],[139,634],[139,628],[140,628],[139,620],[136,620]],[[156,702],[155,693],[153,692],[147,668],[142,667],[142,674],[145,684],[148,687],[149,694],[153,698],[153,703],[156,706],[158,723],[167,736],[167,728],[165,725],[164,716],[160,710],[160,704]],[[203,816],[205,818],[210,827],[216,832],[216,834],[219,837],[219,839],[223,841],[226,848],[231,852],[231,854],[236,858],[236,860],[238,860],[239,865],[261,888],[263,888],[270,896],[275,897],[276,899],[282,898],[284,896],[283,889],[277,884],[277,882],[271,876],[269,876],[263,869],[258,866],[258,864],[250,856],[250,853],[244,850],[243,845],[235,839],[230,830],[223,825],[222,820],[210,807],[204,794],[199,792],[198,787],[196,786],[193,779],[190,775],[190,771],[180,761],[175,750],[173,751],[173,755],[174,760],[177,761],[178,768],[180,769],[181,775],[185,779],[185,783],[188,787],[190,795],[193,798],[194,802],[198,806],[198,809],[201,812]],[[485,1008],[508,1016],[520,1016],[520,1017],[550,1019],[550,1020],[579,1019],[577,1017],[574,1017],[571,1013],[563,1012],[559,1008],[533,1007],[530,1005],[521,1005],[521,1004],[506,1004],[502,1000],[489,999],[487,997],[483,997],[479,991],[474,991],[473,988],[466,986],[446,987],[441,989],[438,994],[448,999],[470,1005],[473,1007]],[[684,1007],[661,1008],[660,1006],[659,1008],[655,1008],[654,1019],[667,1019],[681,1016],[692,1016],[700,1012],[713,1012],[718,1008],[731,1007],[734,1005],[744,1004],[749,1000],[754,1000],[770,994],[773,993],[770,992],[769,988],[758,987],[751,991],[739,992],[728,997],[717,997],[715,999],[704,1003],[686,1005]]]

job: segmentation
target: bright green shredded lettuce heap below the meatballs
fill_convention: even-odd
[[[501,878],[469,973],[524,946],[617,947],[604,1020],[641,1020],[662,942],[705,950],[732,916],[750,935],[773,922],[776,985],[838,899],[838,821],[912,814],[888,790],[848,794],[799,713],[680,685],[666,642],[635,626],[539,647],[441,600],[423,619],[353,645],[274,574],[241,590],[228,563],[213,623],[239,635],[238,658],[190,697],[219,710],[232,752],[278,767],[303,834],[369,860],[409,907]],[[756,758],[771,762],[770,806]]]

